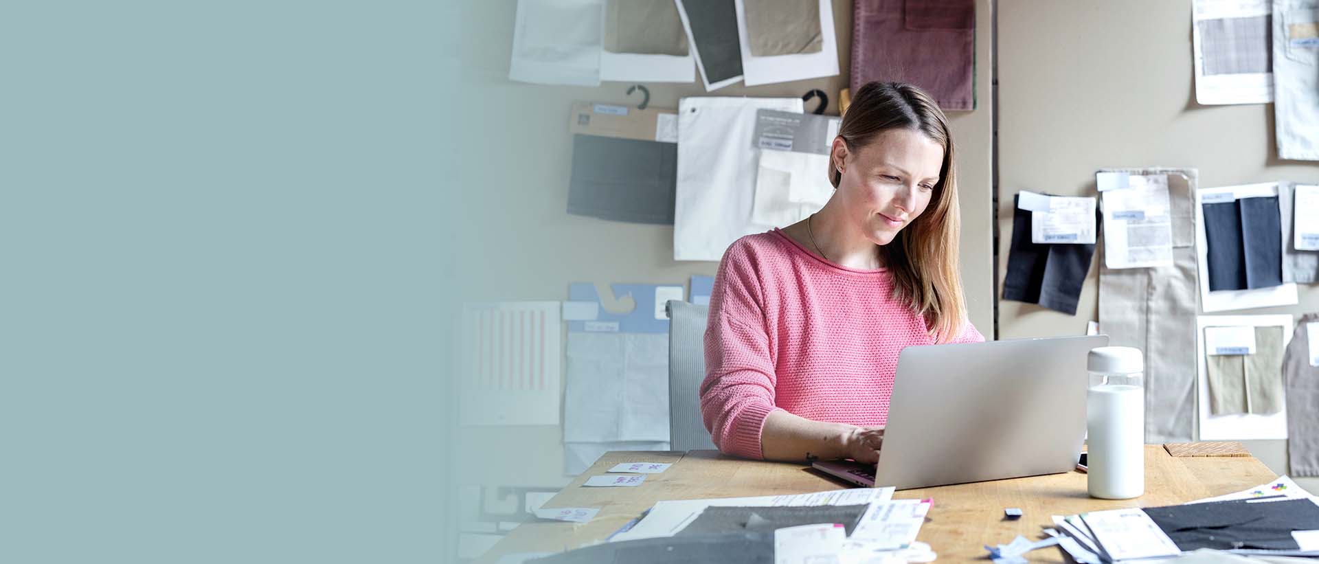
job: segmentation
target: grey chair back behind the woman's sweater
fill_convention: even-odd
[[[700,382],[706,380],[708,306],[669,300],[669,440],[674,451],[712,449],[700,419]]]

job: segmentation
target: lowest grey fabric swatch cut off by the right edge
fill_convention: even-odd
[[[1319,476],[1319,368],[1310,365],[1307,324],[1319,314],[1302,315],[1282,357],[1287,405],[1287,466],[1297,477]]]

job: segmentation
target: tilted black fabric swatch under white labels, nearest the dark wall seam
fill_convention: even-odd
[[[1038,303],[1076,315],[1076,302],[1080,300],[1095,245],[1031,242],[1031,212],[1016,206],[1018,198],[1013,196],[1012,246],[1002,299]],[[1097,216],[1096,212],[1096,220]]]

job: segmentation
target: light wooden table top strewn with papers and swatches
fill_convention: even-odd
[[[586,478],[620,463],[674,463],[646,476],[637,488],[582,488]],[[933,498],[919,540],[930,543],[939,561],[983,559],[984,544],[1005,544],[1016,535],[1039,538],[1050,515],[1072,515],[1119,507],[1155,507],[1239,492],[1277,477],[1254,457],[1169,456],[1161,445],[1145,447],[1145,495],[1136,499],[1092,499],[1086,474],[1067,472],[1029,478],[901,490],[893,497]],[[545,503],[545,507],[600,507],[590,523],[528,522],[514,528],[477,561],[493,563],[517,552],[557,552],[603,540],[661,499],[777,495],[847,488],[802,464],[740,460],[716,451],[609,452],[590,470]],[[1005,507],[1025,515],[1004,519]],[[1037,561],[1063,561],[1058,550],[1028,555]]]

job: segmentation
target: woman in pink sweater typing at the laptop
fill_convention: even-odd
[[[958,273],[952,136],[919,88],[868,83],[830,154],[834,195],[724,253],[700,407],[748,459],[878,460],[898,352],[983,341]]]

